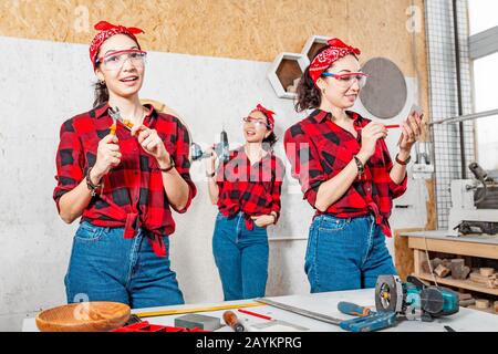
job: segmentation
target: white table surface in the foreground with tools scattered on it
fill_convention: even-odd
[[[305,295],[289,295],[289,296],[278,296],[269,298],[271,300],[286,303],[289,305],[298,306],[313,312],[319,312],[330,316],[339,319],[353,319],[353,316],[340,313],[338,310],[338,303],[340,301],[350,301],[357,303],[363,306],[369,306],[375,310],[374,300],[374,289],[363,289],[354,291],[341,291],[341,292],[326,292],[318,294],[305,294]],[[152,308],[152,309],[135,309],[132,313],[137,312],[151,312],[151,311],[163,311],[163,310],[179,310],[179,309],[191,309],[191,308],[205,308],[225,304],[237,304],[237,303],[248,303],[252,300],[243,301],[230,301],[220,303],[203,303],[203,304],[187,304],[187,305],[174,305],[164,308]],[[287,312],[284,310],[276,309],[268,305],[248,308],[247,310],[253,311],[260,314],[269,315],[276,320],[286,321],[292,324],[308,327],[313,332],[343,332],[339,326],[333,324],[328,324],[317,320],[308,319],[294,313]],[[251,324],[259,324],[262,322],[268,322],[267,320],[258,319],[251,315],[246,315],[232,310],[237,313],[239,320],[247,326],[250,327]],[[217,316],[222,319],[222,311],[212,312],[201,312],[201,314]],[[159,325],[174,325],[174,320],[176,315],[167,315],[160,317],[147,317],[144,321],[148,321],[152,324]],[[221,323],[224,321],[221,320]],[[421,322],[421,321],[397,321],[394,327],[383,330],[385,332],[445,332],[445,325],[449,325],[457,332],[498,332],[498,315],[486,313],[483,311],[470,310],[460,308],[459,312],[440,319],[436,319],[434,322]],[[38,332],[34,319],[25,319],[22,325],[23,332]],[[221,327],[217,332],[230,332],[231,330],[227,326]]]

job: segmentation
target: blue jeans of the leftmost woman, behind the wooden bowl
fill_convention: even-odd
[[[169,258],[157,257],[139,230],[124,239],[124,228],[83,221],[73,240],[64,279],[68,303],[115,301],[133,309],[183,304]],[[168,249],[168,238],[164,238]]]

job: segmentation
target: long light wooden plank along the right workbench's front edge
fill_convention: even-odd
[[[444,253],[498,259],[498,244],[408,237],[408,247],[419,250],[427,248],[428,251]]]

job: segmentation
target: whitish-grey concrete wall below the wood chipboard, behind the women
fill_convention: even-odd
[[[27,315],[65,302],[63,277],[77,225],[65,225],[56,214],[54,157],[60,125],[91,107],[94,79],[86,45],[0,38],[0,48],[9,53],[0,58],[0,331],[19,331]],[[230,142],[242,143],[240,117],[258,102],[278,113],[277,133],[282,137],[300,117],[291,101],[274,95],[267,80],[269,66],[151,53],[141,96],[179,112],[199,143],[218,139],[221,124]],[[390,137],[388,145],[396,140]],[[282,146],[277,149],[286,160]],[[172,264],[188,303],[221,301],[211,252],[217,209],[208,201],[201,166],[195,164],[191,174],[198,196],[186,215],[175,215]],[[394,228],[425,225],[424,184],[411,180],[409,186],[397,202],[411,207],[395,210]],[[269,230],[268,295],[309,291],[303,259],[312,210],[293,180],[286,180],[282,201],[281,222]],[[388,244],[392,248],[391,240]]]

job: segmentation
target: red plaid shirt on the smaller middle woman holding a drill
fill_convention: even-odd
[[[218,167],[219,211],[230,217],[239,211],[246,216],[246,227],[252,230],[251,216],[280,215],[280,194],[284,165],[272,152],[251,166],[243,146],[230,152],[227,163]]]

